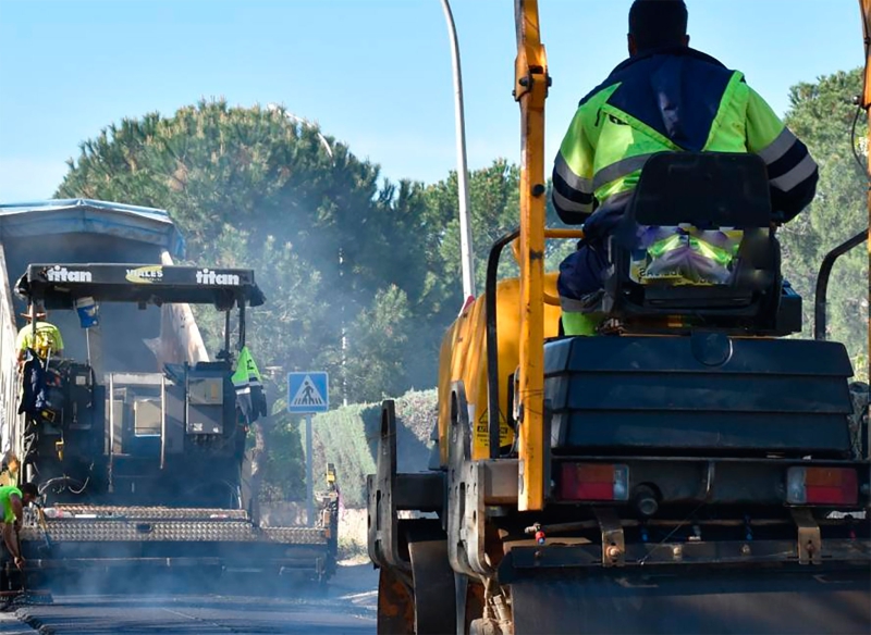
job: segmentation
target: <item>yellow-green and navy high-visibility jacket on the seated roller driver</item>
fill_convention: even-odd
[[[813,199],[818,169],[807,147],[744,79],[688,47],[660,49],[619,64],[585,97],[560,147],[553,203],[563,222],[609,226],[651,154],[755,152],[768,165],[775,220]],[[613,209],[611,209],[613,208]],[[606,220],[610,219],[610,220]]]

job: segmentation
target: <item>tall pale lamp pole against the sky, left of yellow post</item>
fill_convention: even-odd
[[[451,38],[451,58],[454,70],[454,111],[456,119],[456,180],[459,194],[459,250],[463,270],[463,301],[475,296],[475,257],[471,251],[471,224],[469,223],[468,167],[466,163],[466,122],[463,113],[463,75],[459,72],[459,45],[451,5],[442,1],[447,35]]]

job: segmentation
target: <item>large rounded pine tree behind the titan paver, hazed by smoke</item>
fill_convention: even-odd
[[[252,311],[248,340],[261,366],[339,377],[343,328],[375,310],[380,290],[393,285],[418,303],[425,292],[421,186],[379,187],[377,165],[282,109],[204,101],[124,120],[69,164],[58,196],[170,210],[192,261],[256,270],[268,303]],[[223,324],[200,320],[219,343]],[[380,396],[334,386],[339,399]]]

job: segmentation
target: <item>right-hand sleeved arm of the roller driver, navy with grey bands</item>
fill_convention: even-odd
[[[765,161],[776,220],[792,221],[817,194],[817,162],[752,88],[747,103],[747,149]]]

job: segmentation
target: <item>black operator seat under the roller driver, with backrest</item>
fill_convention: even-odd
[[[781,276],[780,245],[763,160],[749,153],[661,152],[651,157],[624,221],[609,238],[613,263],[597,310],[640,333],[668,323],[727,333],[787,335],[801,329],[801,298]],[[724,236],[741,232],[729,278],[702,285],[645,277],[646,228]],[[733,234],[734,235],[734,234]],[[740,234],[738,234],[740,236]],[[726,257],[728,258],[728,257]],[[640,263],[640,264],[639,264]],[[660,325],[660,326],[654,326]]]

